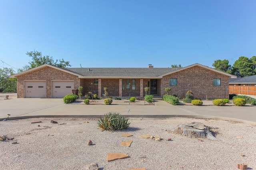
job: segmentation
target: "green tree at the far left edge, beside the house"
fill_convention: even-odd
[[[17,79],[9,78],[12,74],[12,68],[0,68],[0,92],[17,92]]]

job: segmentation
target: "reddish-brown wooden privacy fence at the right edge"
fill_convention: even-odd
[[[256,86],[229,86],[229,93],[256,96]]]

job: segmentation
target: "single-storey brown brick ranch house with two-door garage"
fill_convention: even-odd
[[[83,95],[90,91],[102,96],[106,87],[109,96],[143,97],[148,87],[148,94],[162,97],[168,87],[169,94],[184,98],[191,90],[198,99],[228,96],[229,79],[236,78],[197,63],[183,68],[154,68],[151,64],[148,68],[58,68],[44,64],[10,77],[17,78],[18,98],[63,98],[82,86]]]

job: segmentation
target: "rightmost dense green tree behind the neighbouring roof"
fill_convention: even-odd
[[[238,77],[247,77],[255,75],[255,56],[249,59],[248,57],[241,56],[236,60],[232,66],[232,74]]]

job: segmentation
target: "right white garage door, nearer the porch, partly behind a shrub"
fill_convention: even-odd
[[[67,94],[72,94],[74,81],[52,81],[52,98],[63,98]]]

